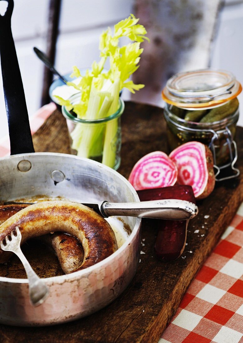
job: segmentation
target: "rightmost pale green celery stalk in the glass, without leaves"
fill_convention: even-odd
[[[115,113],[119,106],[120,79],[117,78],[112,87],[113,102],[110,106],[108,115]],[[116,163],[116,144],[118,130],[118,119],[108,121],[106,124],[105,142],[102,163],[113,168]]]

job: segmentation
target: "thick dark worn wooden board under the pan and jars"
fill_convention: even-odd
[[[137,273],[125,292],[95,314],[53,327],[16,328],[0,325],[0,342],[103,342],[157,343],[177,309],[186,288],[215,247],[243,200],[243,128],[238,127],[238,179],[221,182],[190,221],[187,246],[182,257],[163,263],[154,257],[156,222],[144,220],[145,244]],[[69,153],[66,123],[55,111],[34,134],[36,151]],[[122,163],[119,172],[128,177],[143,155],[167,152],[166,124],[162,109],[127,102],[122,115]],[[205,215],[209,215],[207,219]],[[197,232],[198,230],[198,232]],[[189,251],[192,251],[190,253]]]

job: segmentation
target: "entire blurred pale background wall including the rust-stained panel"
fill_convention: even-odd
[[[43,65],[33,47],[46,50],[48,8],[49,0],[14,3],[12,31],[30,116],[40,107],[43,79]],[[130,13],[141,18],[151,38],[134,76],[146,84],[134,97],[136,101],[162,106],[163,85],[183,70],[226,69],[243,83],[243,0],[62,0],[56,68],[65,74],[75,64],[90,66],[99,57],[102,30]],[[239,99],[243,125],[243,96]],[[8,133],[2,82],[0,124],[1,139]]]

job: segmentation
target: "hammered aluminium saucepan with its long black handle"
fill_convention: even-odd
[[[13,0],[0,16],[0,55],[11,155],[0,160],[0,201],[44,194],[77,202],[138,202],[131,184],[95,161],[72,155],[35,153],[11,32]],[[89,315],[118,297],[135,275],[140,255],[141,218],[123,217],[132,232],[110,257],[69,275],[44,279],[49,297],[29,303],[28,280],[0,277],[0,323],[44,326]]]

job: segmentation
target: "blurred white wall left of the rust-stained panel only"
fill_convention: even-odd
[[[29,116],[40,107],[43,64],[33,47],[45,51],[49,0],[15,0],[12,32]],[[133,0],[62,0],[56,68],[65,74],[73,65],[89,67],[99,59],[99,35],[132,13]],[[0,73],[1,74],[1,73]],[[8,134],[0,76],[0,140]]]

